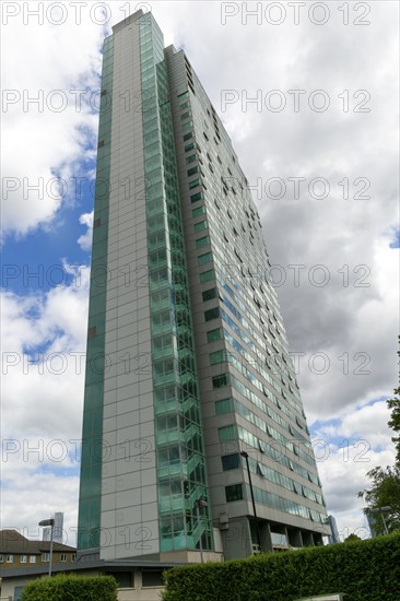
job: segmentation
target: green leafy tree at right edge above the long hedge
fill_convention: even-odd
[[[368,509],[385,507],[385,511],[374,511],[374,530],[376,534],[400,531],[400,468],[374,468],[367,474],[372,487],[361,491],[358,497],[366,500]],[[390,508],[390,509],[386,509]]]

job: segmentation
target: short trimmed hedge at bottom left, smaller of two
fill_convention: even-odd
[[[113,576],[59,575],[30,582],[21,601],[117,601],[117,588]]]

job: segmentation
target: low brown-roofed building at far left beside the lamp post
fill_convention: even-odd
[[[67,565],[75,561],[77,550],[67,544],[54,542],[54,565]],[[50,561],[49,541],[31,541],[16,530],[0,530],[0,566],[3,569],[24,568],[27,565],[45,566]]]

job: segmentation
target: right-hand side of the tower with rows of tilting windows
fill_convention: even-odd
[[[214,525],[226,558],[320,544],[327,511],[260,216],[184,51],[166,49]],[[278,541],[278,542],[277,542]]]

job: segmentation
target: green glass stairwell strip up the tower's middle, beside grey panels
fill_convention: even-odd
[[[213,549],[163,35],[140,20],[161,551]]]

